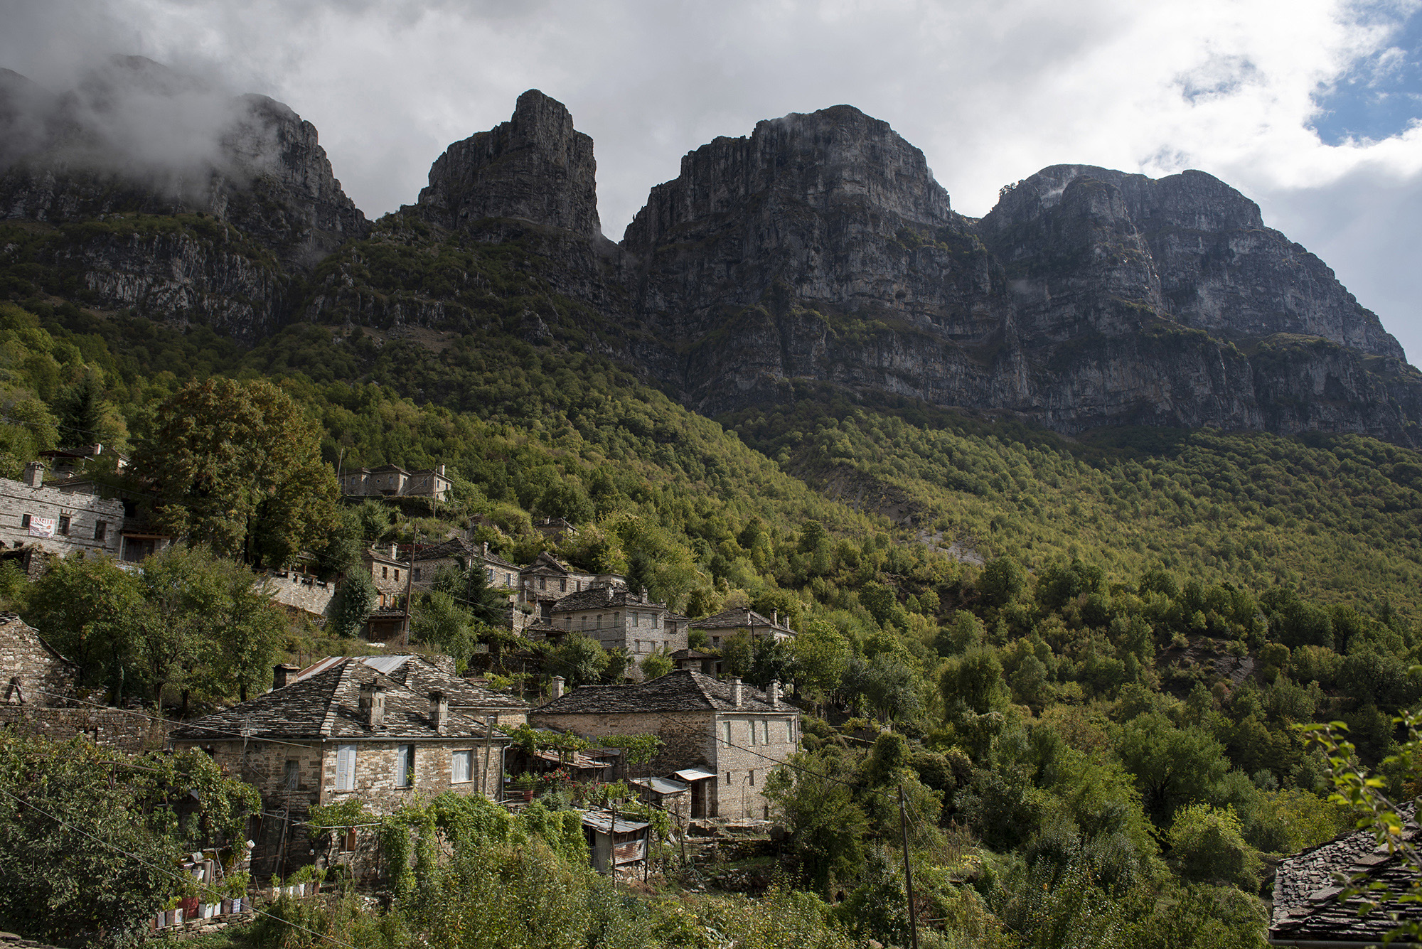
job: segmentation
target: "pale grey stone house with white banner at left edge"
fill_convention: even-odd
[[[31,462],[24,480],[0,477],[0,546],[28,571],[33,554],[73,553],[118,557],[122,553],[124,504],[95,494],[71,494],[44,486],[44,466]]]

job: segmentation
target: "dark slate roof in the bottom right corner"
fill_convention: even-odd
[[[1409,841],[1418,840],[1418,825],[1411,820],[1404,831]],[[1367,874],[1367,882],[1382,882],[1389,892],[1402,894],[1412,884],[1412,872],[1402,857],[1378,847],[1372,831],[1355,831],[1337,840],[1311,847],[1284,859],[1274,877],[1274,915],[1268,928],[1270,940],[1369,943],[1381,942],[1394,928],[1386,911],[1406,921],[1422,921],[1422,904],[1388,902],[1382,909],[1358,915],[1358,899],[1338,898],[1341,885],[1334,874],[1352,878]],[[1415,943],[1395,943],[1415,945]]]

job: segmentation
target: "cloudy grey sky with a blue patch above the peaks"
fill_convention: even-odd
[[[838,104],[971,216],[1047,165],[1196,168],[1422,358],[1422,0],[0,0],[0,67],[114,53],[289,104],[371,217],[528,88],[593,136],[614,240],[688,151]]]

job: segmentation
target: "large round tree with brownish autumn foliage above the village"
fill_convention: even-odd
[[[260,379],[183,386],[159,406],[134,469],[166,530],[222,555],[284,567],[338,524],[316,423]]]

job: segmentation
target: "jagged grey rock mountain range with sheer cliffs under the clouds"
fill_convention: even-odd
[[[0,119],[33,114],[44,95],[6,77]],[[119,291],[191,251],[87,243],[82,283],[105,305],[139,303],[247,338],[287,320],[496,328],[620,359],[711,415],[828,384],[1062,432],[1139,423],[1419,440],[1422,374],[1396,340],[1322,261],[1266,227],[1257,205],[1203,172],[1156,180],[1057,165],[973,220],[917,148],[838,105],[693,151],[613,244],[597,217],[593,141],[530,90],[508,122],[452,143],[418,200],[367,237],[316,131],[270,99],[242,102],[218,136],[205,180],[220,182],[222,200],[206,209],[276,254],[247,254],[266,286],[223,290],[209,264],[189,280],[201,293]],[[33,122],[9,121],[16,141],[36,139]],[[124,193],[115,182],[132,175],[107,169],[95,188],[60,139],[47,131],[43,148],[9,159],[0,215],[75,220]],[[243,210],[262,193],[279,200]],[[438,256],[452,246],[445,234],[472,254],[456,273],[373,276],[367,251]],[[498,247],[516,247],[501,260],[547,293],[519,297],[522,310],[495,327],[479,314],[501,291],[476,271]],[[301,273],[311,277],[297,300]]]

